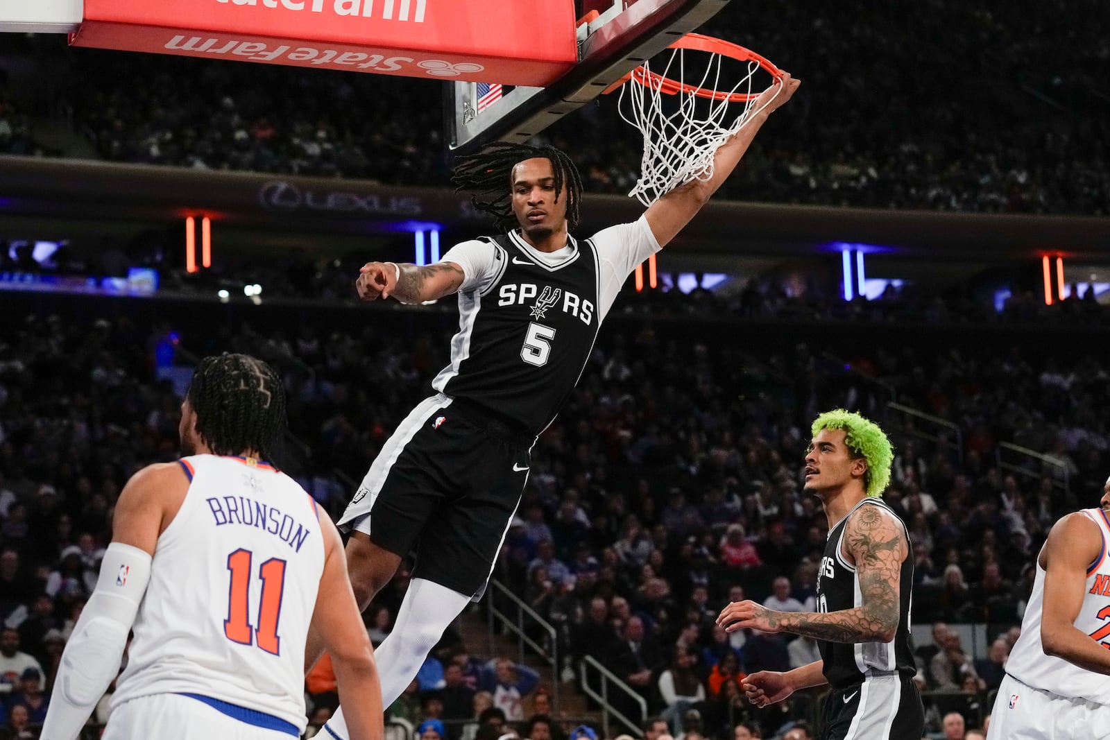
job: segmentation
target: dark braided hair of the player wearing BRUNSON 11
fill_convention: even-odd
[[[196,432],[214,454],[252,449],[270,459],[285,425],[285,388],[270,365],[250,355],[205,357],[186,397],[196,412]]]

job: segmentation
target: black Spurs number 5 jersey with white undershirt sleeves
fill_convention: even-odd
[[[468,280],[458,293],[451,364],[432,386],[529,437],[566,403],[616,292],[658,245],[642,219],[589,240],[568,239],[564,249],[549,264],[513,232],[443,257],[462,264]],[[471,278],[477,284],[467,290]]]

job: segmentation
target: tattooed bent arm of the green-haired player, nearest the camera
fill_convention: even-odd
[[[901,524],[878,506],[861,506],[845,525],[845,549],[856,561],[862,605],[829,614],[773,611],[754,601],[725,607],[717,624],[729,632],[751,627],[829,642],[889,642],[898,629],[899,575],[909,556]]]

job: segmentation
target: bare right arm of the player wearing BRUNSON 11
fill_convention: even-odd
[[[351,590],[340,533],[324,513],[320,514],[320,529],[325,559],[312,628],[319,631],[332,657],[350,740],[382,740],[385,731],[382,685],[374,663],[374,647]]]

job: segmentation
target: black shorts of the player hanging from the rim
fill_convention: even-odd
[[[443,394],[426,398],[390,437],[339,521],[401,557],[414,578],[475,600],[516,514],[528,446],[512,444]]]

